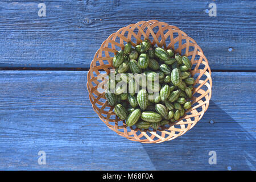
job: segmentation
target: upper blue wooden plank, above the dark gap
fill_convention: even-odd
[[[210,1],[199,0],[44,2],[41,18],[38,1],[0,2],[0,67],[89,68],[110,34],[158,19],[195,39],[212,69],[256,69],[255,1],[216,1],[216,17],[205,13]]]

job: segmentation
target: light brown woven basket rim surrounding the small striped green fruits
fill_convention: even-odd
[[[149,39],[152,45],[157,44],[158,47],[172,48],[175,52],[191,59],[193,65],[191,75],[196,80],[193,85],[195,88],[192,91],[191,109],[187,110],[183,118],[177,122],[171,123],[169,127],[160,127],[157,131],[127,127],[125,121],[121,121],[115,115],[113,107],[108,105],[104,90],[99,86],[102,82],[106,82],[99,77],[100,74],[109,74],[110,68],[113,68],[114,53],[123,49],[126,42],[131,42],[133,46],[136,46],[144,39]],[[208,109],[212,95],[210,67],[202,49],[197,46],[195,40],[179,28],[158,20],[130,24],[110,35],[96,52],[90,64],[87,79],[89,99],[98,117],[118,135],[142,143],[161,143],[172,140],[192,129]]]

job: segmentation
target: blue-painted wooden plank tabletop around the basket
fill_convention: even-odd
[[[210,3],[216,16],[209,16]],[[255,1],[237,0],[0,1],[0,169],[255,170],[255,9]],[[108,129],[86,90],[101,43],[150,19],[195,39],[213,78],[200,122],[160,144]],[[209,163],[212,152],[216,164]]]

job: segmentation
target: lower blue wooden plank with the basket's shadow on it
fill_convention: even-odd
[[[86,74],[0,72],[0,169],[255,170],[256,73],[214,72],[207,113],[161,144],[131,142],[108,129],[90,105]],[[46,165],[38,164],[39,151]],[[216,165],[208,163],[210,151]]]

